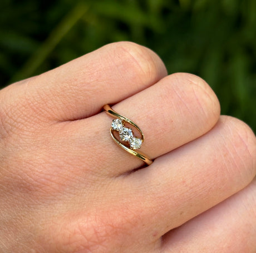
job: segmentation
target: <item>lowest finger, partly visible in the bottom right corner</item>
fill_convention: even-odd
[[[254,253],[256,180],[238,194],[170,231],[163,253]]]

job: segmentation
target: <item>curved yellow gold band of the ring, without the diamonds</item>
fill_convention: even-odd
[[[139,130],[140,134],[141,134],[141,140],[142,142],[144,141],[144,134],[142,133],[142,130],[139,128],[139,126],[134,123],[132,120],[126,118],[125,116],[115,112],[111,107],[110,105],[106,104],[104,105],[103,109],[106,111],[107,114],[111,115],[111,117],[114,117],[114,118],[119,118],[121,120],[124,120],[125,122],[131,124],[132,126],[134,126],[137,130]],[[128,148],[127,146],[125,146],[124,144],[122,144],[119,140],[117,140],[115,138],[115,135],[114,135],[114,131],[112,128],[110,128],[110,135],[112,137],[112,139],[115,141],[115,143],[117,145],[119,145],[122,149],[126,150],[128,153],[132,154],[132,155],[135,155],[137,158],[141,159],[142,161],[144,161],[144,163],[146,163],[147,165],[150,165],[152,164],[152,160],[145,154],[143,153],[138,153],[137,151],[135,150],[132,150],[130,148]]]

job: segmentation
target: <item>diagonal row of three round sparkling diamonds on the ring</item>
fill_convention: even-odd
[[[132,129],[125,127],[123,120],[114,119],[111,128],[119,132],[122,141],[129,142],[131,149],[140,149],[142,140],[134,136]]]

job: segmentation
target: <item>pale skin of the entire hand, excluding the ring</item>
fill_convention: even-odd
[[[111,139],[107,103],[150,166]],[[0,91],[0,252],[253,253],[255,158],[203,79],[106,45]]]

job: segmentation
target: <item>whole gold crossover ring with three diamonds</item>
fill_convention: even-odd
[[[153,161],[147,155],[135,151],[135,149],[140,149],[141,144],[144,141],[144,134],[137,126],[137,124],[135,124],[132,120],[115,112],[108,104],[104,105],[103,109],[106,111],[107,114],[111,115],[111,117],[115,118],[112,121],[110,128],[110,135],[115,143],[121,146],[121,148],[126,150],[129,154],[135,155],[137,158],[144,161],[144,163],[146,163],[147,165],[152,164]],[[138,138],[134,136],[134,131],[131,128],[128,128],[125,123],[135,127],[139,131],[141,137]],[[120,140],[116,138],[117,133],[119,133]]]

